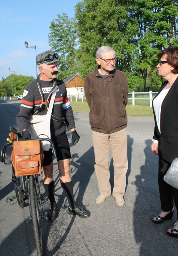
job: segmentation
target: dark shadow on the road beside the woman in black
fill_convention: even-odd
[[[158,156],[151,153],[151,140],[145,141],[145,165],[141,174],[133,183],[138,195],[134,206],[134,235],[136,243],[140,243],[140,256],[177,255],[175,239],[166,235],[166,230],[176,222],[176,214],[172,221],[158,225],[152,217],[161,211],[158,189]],[[139,157],[139,156],[138,156]],[[169,246],[168,246],[169,244]]]

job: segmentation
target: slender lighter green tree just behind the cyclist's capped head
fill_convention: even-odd
[[[63,16],[57,16],[58,19],[51,22],[49,27],[51,33],[49,33],[48,38],[51,49],[59,54],[58,78],[64,80],[77,72],[77,30],[75,19],[69,18],[65,13]]]

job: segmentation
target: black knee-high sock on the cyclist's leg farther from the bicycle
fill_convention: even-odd
[[[61,187],[64,189],[64,192],[67,197],[69,207],[71,208],[71,210],[78,208],[78,205],[75,203],[75,200],[74,200],[72,181],[65,182],[65,183],[61,182],[60,184],[61,184]]]

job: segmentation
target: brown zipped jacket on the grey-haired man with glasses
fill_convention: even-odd
[[[111,134],[127,127],[128,82],[124,72],[115,69],[102,78],[98,67],[84,81],[90,125],[95,132]]]

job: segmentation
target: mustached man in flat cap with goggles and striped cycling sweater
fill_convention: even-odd
[[[53,82],[57,77],[58,72],[58,54],[52,50],[42,52],[36,57],[36,63],[40,70],[40,86],[42,87],[42,93],[44,95],[44,102],[46,102]],[[66,135],[67,129],[71,130],[72,143],[78,142],[80,136],[75,130],[74,116],[71,108],[71,103],[67,98],[67,91],[63,81],[56,80],[57,89],[56,97],[54,100],[54,106],[52,115],[57,119],[65,118],[65,122],[54,121],[51,118],[51,139],[56,147],[56,154],[58,158],[58,169],[60,172],[60,182],[64,189],[65,195],[69,202],[69,214],[78,215],[79,217],[89,217],[89,214],[82,210],[74,200],[73,185],[70,175],[69,161],[71,158],[71,152],[69,148],[69,142]],[[47,107],[41,104],[42,96],[38,89],[37,80],[30,83],[24,91],[22,104],[20,105],[20,112],[16,117],[16,122],[23,140],[31,139],[31,134],[28,132],[28,125],[31,114],[36,111],[40,111],[38,115],[46,115]],[[48,213],[50,221],[54,221],[57,217],[56,201],[54,198],[54,180],[53,180],[53,153],[51,149],[44,151],[43,161],[43,183],[44,188],[51,202],[51,209]]]

